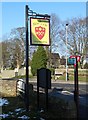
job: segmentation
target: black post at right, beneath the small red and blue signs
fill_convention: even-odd
[[[78,87],[78,62],[76,56],[76,66],[74,68],[74,101],[77,109],[77,120],[79,119],[79,87]]]

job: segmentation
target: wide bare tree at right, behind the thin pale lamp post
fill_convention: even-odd
[[[66,45],[66,23],[68,23],[67,48],[69,54],[78,53],[84,57],[85,50],[87,50],[86,18],[73,18],[62,24],[59,35],[64,45]]]

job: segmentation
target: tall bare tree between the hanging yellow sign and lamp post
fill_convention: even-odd
[[[50,18],[50,47],[46,47],[46,53],[48,56],[48,66],[51,66],[51,53],[58,51],[59,46],[59,30],[60,30],[60,19],[56,14],[51,14]]]

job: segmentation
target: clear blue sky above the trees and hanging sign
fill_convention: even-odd
[[[2,0],[0,2],[0,38],[11,32],[11,29],[25,26],[25,5],[36,13],[49,14],[55,13],[62,21],[74,17],[86,17],[86,2],[33,2],[36,0]],[[11,1],[11,2],[10,2]],[[30,1],[30,2],[29,2]],[[39,0],[38,0],[39,1]],[[45,0],[46,1],[46,0]],[[57,0],[56,0],[57,1]],[[62,0],[65,1],[65,0]],[[69,0],[68,0],[69,1]],[[81,1],[81,0],[80,0]]]

